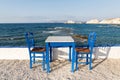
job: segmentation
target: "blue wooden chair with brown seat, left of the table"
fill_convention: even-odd
[[[25,34],[29,57],[30,57],[30,69],[32,69],[33,64],[42,63],[43,70],[45,69],[45,51],[44,47],[35,47],[33,33],[27,32]],[[38,62],[36,59],[42,59],[41,62]]]

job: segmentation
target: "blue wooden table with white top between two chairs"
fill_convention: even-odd
[[[52,60],[51,48],[69,47],[69,60],[71,60],[71,71],[74,72],[75,63],[75,42],[71,36],[49,36],[46,40],[46,64],[47,72],[50,72],[50,61]],[[71,57],[72,54],[72,57]]]

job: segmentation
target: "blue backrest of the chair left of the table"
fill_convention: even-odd
[[[33,33],[32,32],[25,33],[25,38],[26,38],[28,50],[30,52],[31,48],[35,46]]]

